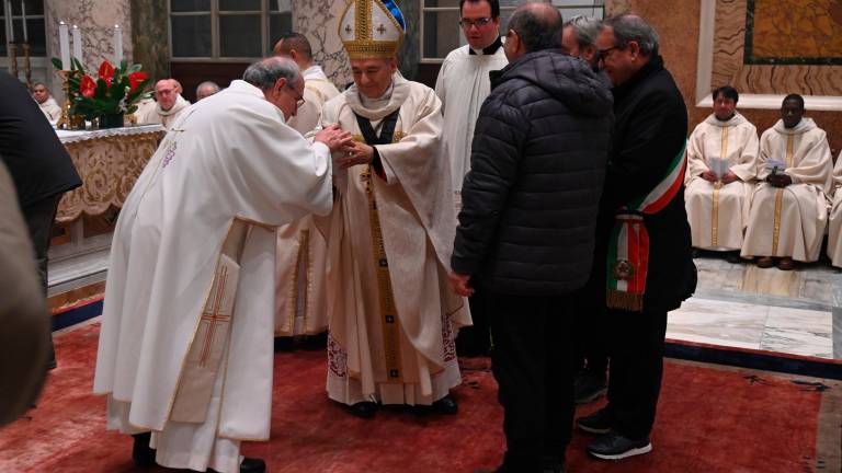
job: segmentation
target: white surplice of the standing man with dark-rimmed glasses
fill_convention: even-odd
[[[451,163],[454,203],[462,208],[462,181],[470,171],[470,143],[479,108],[491,92],[489,72],[503,69],[509,61],[502,46],[492,55],[471,55],[465,45],[452,50],[439,71],[435,93],[442,101],[444,134],[442,149]],[[481,53],[481,51],[480,51]]]

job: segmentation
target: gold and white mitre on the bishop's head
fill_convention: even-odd
[[[339,38],[351,59],[397,57],[407,24],[392,0],[353,0],[339,22]]]

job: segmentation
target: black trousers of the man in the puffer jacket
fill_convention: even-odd
[[[564,462],[573,419],[576,299],[487,293],[491,362],[500,387],[505,472]]]

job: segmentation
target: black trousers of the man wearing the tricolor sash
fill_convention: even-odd
[[[624,437],[649,436],[663,377],[667,312],[607,311],[608,414]]]

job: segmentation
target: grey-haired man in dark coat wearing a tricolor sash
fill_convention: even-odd
[[[611,369],[608,405],[578,425],[600,434],[588,451],[605,460],[651,451],[667,312],[696,285],[684,208],[687,111],[658,43],[634,14],[606,19],[596,41],[616,122],[590,296],[604,301]]]

